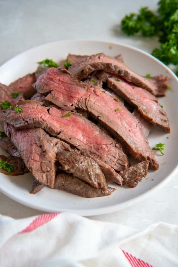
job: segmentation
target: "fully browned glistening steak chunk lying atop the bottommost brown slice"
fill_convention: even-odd
[[[60,170],[71,173],[96,188],[108,188],[104,174],[93,159],[82,156],[77,151],[58,152],[56,159]]]

